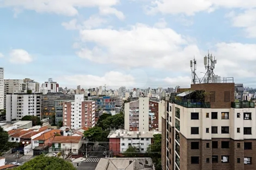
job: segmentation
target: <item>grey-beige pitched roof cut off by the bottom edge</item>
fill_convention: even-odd
[[[155,170],[151,158],[100,158],[95,170]]]

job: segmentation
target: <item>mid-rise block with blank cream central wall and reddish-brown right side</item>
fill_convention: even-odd
[[[161,131],[160,101],[140,97],[124,105],[124,128],[128,131]],[[160,115],[160,116],[159,116]],[[160,119],[159,119],[160,118]],[[159,129],[160,127],[160,129]]]

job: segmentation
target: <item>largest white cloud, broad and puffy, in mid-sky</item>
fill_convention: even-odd
[[[189,69],[189,58],[200,55],[196,45],[188,44],[185,37],[170,28],[158,29],[136,24],[127,30],[83,30],[80,36],[85,44],[92,42],[96,46],[85,46],[77,52],[79,57],[126,68],[150,66],[184,71]],[[188,65],[184,65],[184,62]]]

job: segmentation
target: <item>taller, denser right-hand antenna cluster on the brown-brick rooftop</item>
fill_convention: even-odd
[[[208,56],[204,57],[204,67],[206,70],[206,73],[202,79],[202,81],[204,81],[204,83],[212,83],[213,82],[213,77],[214,77],[214,72],[213,70],[215,69],[215,64],[217,63],[217,60],[215,59],[215,57],[212,57],[212,54],[209,54],[208,51]]]

